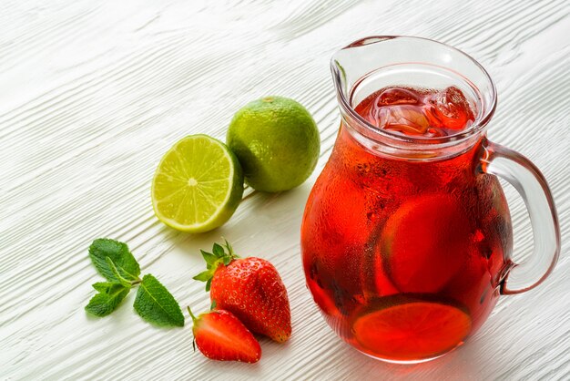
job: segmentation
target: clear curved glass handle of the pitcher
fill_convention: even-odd
[[[509,269],[501,293],[524,293],[543,283],[552,273],[560,254],[560,227],[555,201],[545,177],[523,155],[488,142],[481,170],[511,183],[524,200],[533,228],[532,256]],[[508,281],[508,285],[507,285]]]

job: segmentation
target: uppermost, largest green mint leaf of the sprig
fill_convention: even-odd
[[[89,257],[97,272],[111,282],[121,282],[107,262],[107,257],[115,263],[117,272],[125,279],[135,281],[140,275],[140,267],[126,243],[99,238],[89,246]]]

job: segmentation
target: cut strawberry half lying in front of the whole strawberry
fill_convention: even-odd
[[[236,316],[225,310],[212,310],[196,317],[190,307],[188,313],[194,323],[194,341],[203,355],[219,361],[260,361],[260,343]]]

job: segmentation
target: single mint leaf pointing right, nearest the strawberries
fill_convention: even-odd
[[[133,306],[137,314],[148,323],[160,326],[184,326],[184,315],[178,302],[167,288],[150,274],[145,275],[138,286]]]

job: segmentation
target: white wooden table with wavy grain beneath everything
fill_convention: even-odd
[[[570,379],[570,3],[93,1],[0,4],[0,379]],[[304,285],[300,218],[331,153],[339,112],[329,58],[362,36],[415,35],[463,49],[496,81],[489,137],[534,160],[555,195],[563,250],[542,286],[504,297],[482,330],[432,363],[392,366],[344,345]],[[157,221],[150,180],[178,139],[223,139],[242,105],[298,99],[321,129],[319,167],[290,192],[256,193],[215,232]],[[514,257],[532,248],[507,188]],[[84,312],[98,237],[128,242],[180,304],[206,309],[198,248],[225,236],[269,259],[289,289],[293,335],[262,340],[257,365],[192,353],[190,324]]]

